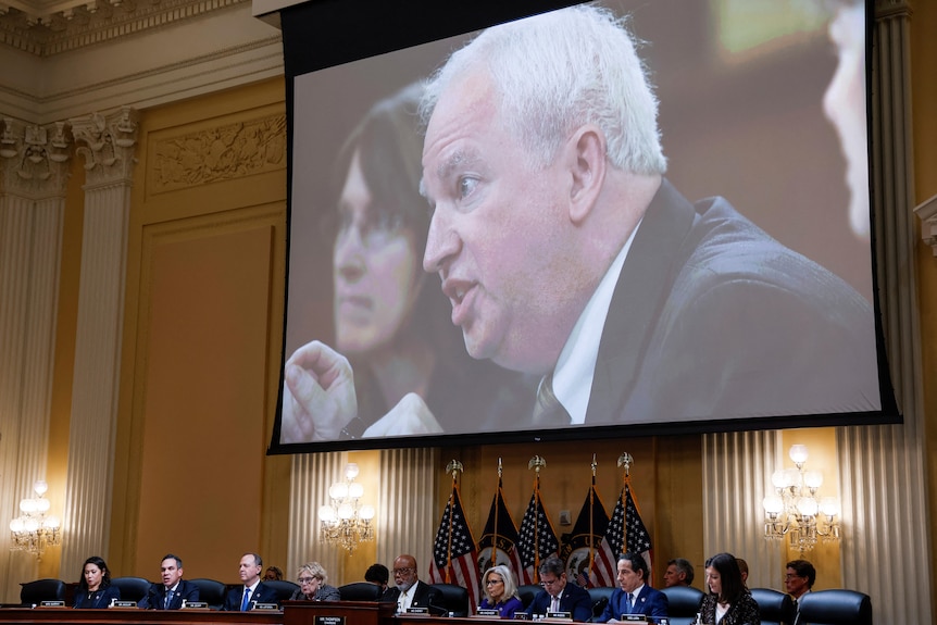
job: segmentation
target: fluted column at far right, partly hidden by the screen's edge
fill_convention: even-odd
[[[904,424],[837,429],[842,584],[872,597],[876,621],[933,623],[917,304],[909,2],[878,0],[873,29],[872,166],[878,288]],[[882,571],[888,571],[882,575]]]

